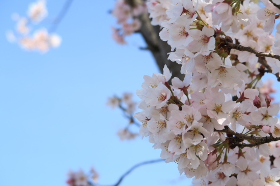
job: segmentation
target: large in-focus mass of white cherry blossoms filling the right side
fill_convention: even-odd
[[[163,75],[144,76],[136,92],[143,111],[134,117],[160,157],[177,162],[194,185],[279,185],[280,147],[265,142],[280,137],[279,105],[268,96],[271,86],[260,89],[266,71],[258,60],[272,73],[280,62],[227,45],[280,54],[270,35],[280,10],[262,1],[262,9],[249,0],[148,1],[153,24],[163,27],[161,39],[175,50],[169,59],[182,64],[185,78],[171,79],[166,66]]]

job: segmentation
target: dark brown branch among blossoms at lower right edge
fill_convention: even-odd
[[[233,130],[231,130],[229,128],[229,126],[225,126],[225,128],[222,129],[222,130],[215,130],[215,131],[216,132],[225,132],[225,133],[234,135],[235,137],[229,137],[229,139],[231,141],[242,141],[243,139],[245,139],[245,140],[255,142],[255,143],[249,143],[249,144],[247,144],[247,143],[233,143],[233,144],[231,144],[232,148],[234,148],[236,146],[238,146],[240,148],[243,148],[243,147],[246,147],[246,146],[253,147],[253,146],[261,145],[261,144],[264,144],[264,143],[269,143],[271,141],[280,140],[280,137],[274,138],[272,135],[270,135],[269,137],[256,137],[254,135],[239,134],[239,133],[236,133]]]

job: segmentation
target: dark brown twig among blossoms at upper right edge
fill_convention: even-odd
[[[267,68],[267,72],[272,73],[272,68],[269,66],[269,64],[267,64],[265,57],[271,57],[274,59],[278,59],[280,60],[280,56],[279,55],[275,55],[272,52],[271,53],[265,53],[265,52],[259,52],[255,49],[252,49],[250,47],[243,47],[242,45],[238,45],[238,44],[234,44],[234,43],[230,43],[230,42],[225,42],[225,44],[227,46],[229,46],[231,49],[236,49],[239,51],[246,51],[246,52],[250,52],[255,54],[257,57],[259,57],[258,62],[262,65],[264,65]],[[280,82],[280,77],[279,77],[279,72],[274,74],[277,78],[277,81]]]

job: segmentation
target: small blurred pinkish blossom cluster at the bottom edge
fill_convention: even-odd
[[[87,175],[82,170],[77,172],[69,171],[66,183],[69,186],[90,186],[97,183],[99,178],[98,172],[92,167],[90,174]]]

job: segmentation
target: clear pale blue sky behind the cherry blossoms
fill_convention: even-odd
[[[132,165],[158,159],[147,139],[119,140],[116,132],[127,121],[105,105],[108,96],[134,93],[144,75],[158,71],[151,54],[138,49],[139,35],[126,46],[111,39],[114,1],[74,1],[57,30],[61,47],[44,55],[5,38],[15,26],[11,14],[25,15],[32,2],[0,1],[0,185],[66,185],[69,169],[92,165],[107,185]],[[64,2],[47,2],[47,28]],[[121,185],[190,184],[177,164],[157,163],[136,169]]]

